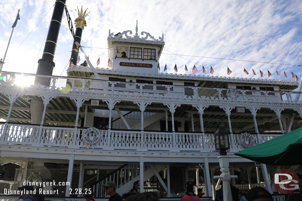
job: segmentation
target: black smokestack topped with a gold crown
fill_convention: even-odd
[[[81,11],[79,11],[79,8],[78,8],[78,17],[75,19],[76,33],[75,33],[75,39],[72,44],[72,51],[71,51],[71,56],[70,56],[71,58],[73,58],[71,60],[71,62],[75,65],[77,64],[77,60],[79,57],[79,50],[77,49],[76,42],[79,42],[79,44],[81,44],[82,32],[84,30],[84,27],[87,26],[86,20],[85,20],[85,17],[88,15],[88,13],[86,14],[87,9],[83,13],[83,6],[81,8]]]

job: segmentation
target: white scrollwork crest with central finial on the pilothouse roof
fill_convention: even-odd
[[[131,30],[123,31],[122,33],[114,35],[114,33],[111,33],[110,29],[109,29],[108,39],[121,39],[121,40],[130,39],[131,42],[133,42],[133,41],[143,42],[144,41],[144,42],[151,42],[151,43],[152,42],[163,42],[164,43],[164,34],[162,34],[162,37],[159,36],[158,39],[155,39],[154,36],[151,36],[150,33],[145,32],[145,31],[142,31],[140,33],[141,36],[139,36],[137,31],[138,31],[138,27],[137,27],[137,20],[136,20],[135,35],[132,35]],[[130,34],[130,36],[128,35],[128,33]]]

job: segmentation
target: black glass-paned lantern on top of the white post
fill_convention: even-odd
[[[218,124],[218,120],[217,120]],[[226,150],[230,149],[229,133],[224,129],[223,125],[217,125],[215,132],[215,150],[219,151],[220,155],[226,155]]]

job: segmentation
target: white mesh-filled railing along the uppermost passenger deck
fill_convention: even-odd
[[[6,75],[5,79],[0,81],[0,86],[23,86],[24,88],[51,89],[59,90],[62,93],[69,93],[70,91],[104,93],[104,91],[107,90],[107,93],[109,94],[131,94],[146,97],[151,96],[204,100],[216,99],[224,101],[230,100],[269,103],[302,103],[300,92],[237,90],[180,85],[113,82],[108,80],[44,76],[5,71],[0,71],[0,74]],[[10,77],[11,79],[9,79]]]

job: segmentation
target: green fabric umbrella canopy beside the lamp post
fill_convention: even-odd
[[[235,155],[267,165],[302,164],[302,127]]]

